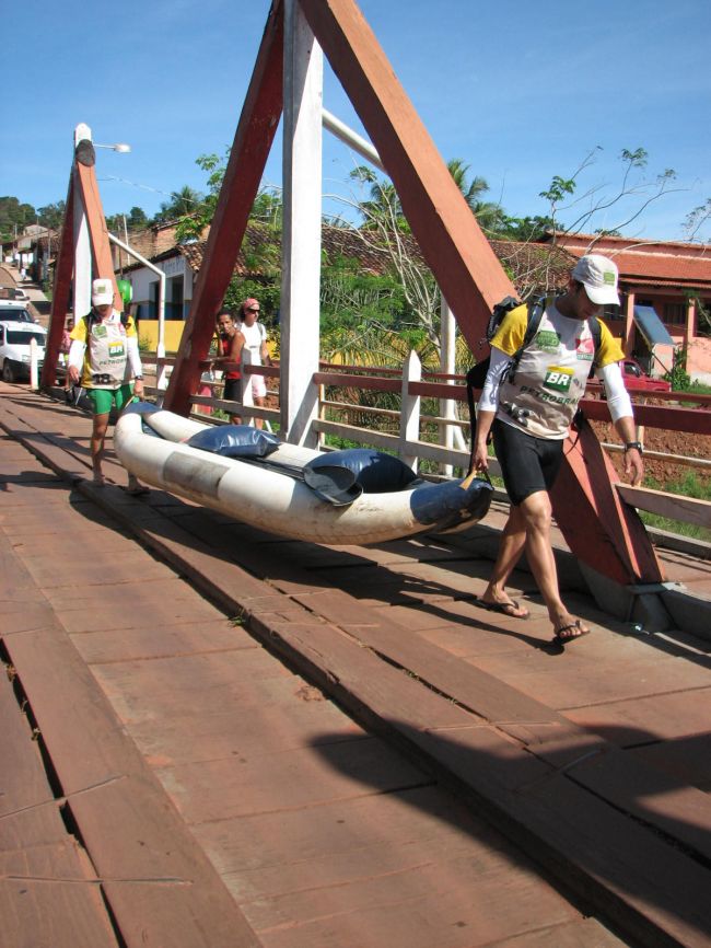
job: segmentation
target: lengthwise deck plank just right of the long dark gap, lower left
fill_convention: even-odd
[[[63,631],[5,644],[126,945],[257,945]]]

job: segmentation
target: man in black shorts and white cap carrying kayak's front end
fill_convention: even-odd
[[[610,417],[625,443],[625,473],[633,485],[643,475],[642,446],[636,440],[632,405],[619,367],[623,352],[598,320],[603,307],[619,305],[617,279],[613,261],[599,254],[581,257],[567,291],[545,301],[536,335],[521,352],[513,371],[512,359],[524,344],[528,309],[521,305],[508,313],[491,339],[491,365],[477,411],[474,466],[487,470],[491,433],[512,505],[499,556],[479,604],[514,618],[528,616],[528,611],[505,591],[525,548],[555,640],[560,645],[586,635],[590,628],[570,614],[560,597],[550,542],[549,490],[560,470],[563,441],[593,362],[605,384]]]

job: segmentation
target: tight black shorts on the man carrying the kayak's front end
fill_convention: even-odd
[[[563,460],[564,439],[535,438],[498,418],[491,433],[503,483],[514,507],[538,490],[550,490]]]

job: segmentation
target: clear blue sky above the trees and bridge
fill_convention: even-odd
[[[232,142],[268,7],[5,3],[14,66],[0,105],[0,194],[36,207],[66,197],[80,122],[96,142],[132,148],[97,153],[107,215],[135,205],[154,213],[185,184],[203,190],[195,159]],[[677,174],[677,190],[625,234],[683,240],[687,213],[711,197],[708,0],[360,0],[360,8],[442,157],[483,176],[487,197],[509,213],[546,213],[539,192],[594,153],[578,187],[593,196],[563,212],[570,222],[615,194],[625,148],[649,153],[636,183]],[[363,134],[328,68],[324,105]],[[276,185],[279,142],[265,175]],[[348,196],[359,161],[325,135],[324,190]],[[614,205],[591,227],[619,226],[643,199]],[[711,240],[711,229],[700,236]]]

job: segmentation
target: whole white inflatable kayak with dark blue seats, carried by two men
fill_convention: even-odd
[[[421,481],[381,451],[319,452],[145,403],[121,415],[114,448],[147,484],[270,533],[329,545],[461,529],[486,516],[492,495],[487,481]]]

